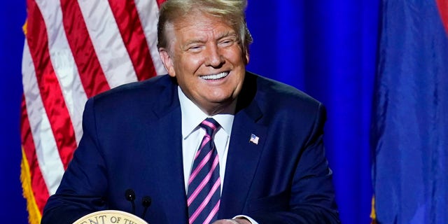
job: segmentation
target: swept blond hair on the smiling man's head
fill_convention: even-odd
[[[167,48],[165,29],[167,24],[190,13],[200,10],[209,15],[222,18],[229,23],[239,38],[239,45],[243,53],[248,53],[248,45],[252,43],[251,33],[247,29],[246,0],[167,0],[160,6],[158,22],[158,48]]]

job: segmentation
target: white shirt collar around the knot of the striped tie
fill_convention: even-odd
[[[201,109],[196,106],[188,97],[182,92],[181,87],[177,87],[179,91],[179,102],[181,104],[181,113],[182,113],[182,138],[186,139],[188,135],[199,128],[200,123],[205,118],[208,118],[207,113],[201,111]],[[219,125],[221,125],[222,129],[225,131],[228,136],[230,136],[232,132],[233,118],[235,116],[232,114],[216,114],[215,116],[211,116],[214,118]]]

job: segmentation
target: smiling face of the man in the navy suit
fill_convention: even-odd
[[[167,25],[168,47],[160,56],[169,76],[209,115],[235,101],[244,81],[248,55],[237,32],[220,18],[194,10]]]

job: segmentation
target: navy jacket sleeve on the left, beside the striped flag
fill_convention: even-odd
[[[83,137],[55,195],[43,210],[42,224],[73,223],[78,218],[107,208],[104,200],[107,180],[104,160],[99,152],[93,99],[83,114]]]

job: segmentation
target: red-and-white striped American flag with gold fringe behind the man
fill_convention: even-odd
[[[27,0],[22,59],[22,188],[40,223],[83,134],[87,98],[165,73],[157,42],[164,0]]]

